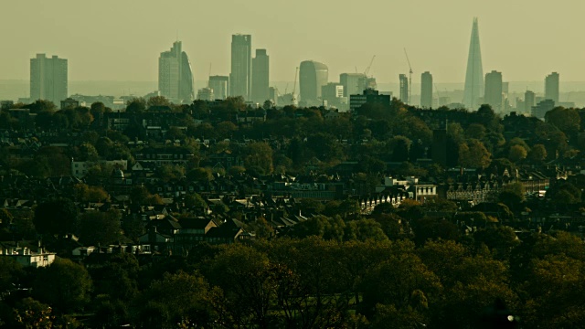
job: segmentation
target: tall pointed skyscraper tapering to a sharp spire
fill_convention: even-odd
[[[477,18],[473,18],[472,39],[469,44],[469,57],[467,58],[467,73],[465,74],[465,90],[463,91],[463,104],[473,110],[477,110],[479,101],[484,95],[484,69],[482,66],[482,50],[479,47],[479,28]]]

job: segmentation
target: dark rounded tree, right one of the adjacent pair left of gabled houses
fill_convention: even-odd
[[[90,211],[81,216],[80,241],[86,246],[110,245],[122,238],[120,212],[115,209],[107,212]]]

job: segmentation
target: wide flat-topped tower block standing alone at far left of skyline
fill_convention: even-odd
[[[30,59],[30,99],[52,101],[56,106],[67,99],[67,59],[37,54]]]

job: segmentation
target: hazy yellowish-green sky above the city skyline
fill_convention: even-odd
[[[585,80],[583,0],[0,0],[0,80],[27,80],[36,53],[69,59],[69,80],[157,80],[158,56],[176,40],[207,80],[229,74],[231,35],[267,48],[271,80],[293,80],[304,59],[378,82],[463,82],[473,16],[484,72],[504,80]]]

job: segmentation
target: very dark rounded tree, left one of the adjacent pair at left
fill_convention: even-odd
[[[57,198],[38,205],[33,222],[38,232],[61,238],[77,231],[79,219],[79,210],[70,199]]]

